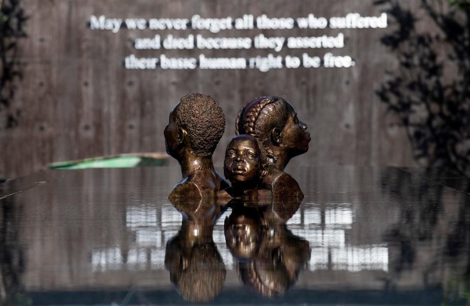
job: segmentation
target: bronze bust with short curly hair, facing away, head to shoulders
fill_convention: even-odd
[[[224,113],[211,96],[187,94],[181,98],[164,130],[166,152],[180,163],[183,175],[170,198],[211,197],[229,187],[212,163],[224,130]]]

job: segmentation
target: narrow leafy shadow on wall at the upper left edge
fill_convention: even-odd
[[[17,40],[26,37],[24,23],[27,18],[20,0],[0,0],[0,129],[18,125],[19,109],[12,107],[15,96],[15,79],[21,79],[17,59]]]

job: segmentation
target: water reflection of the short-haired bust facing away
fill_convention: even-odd
[[[171,199],[183,215],[181,229],[166,244],[165,268],[188,302],[209,302],[222,290],[225,265],[212,239],[220,206],[213,198],[196,201]]]

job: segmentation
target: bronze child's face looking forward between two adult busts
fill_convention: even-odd
[[[248,182],[259,178],[260,156],[256,140],[248,135],[235,137],[227,146],[224,174],[231,182]]]

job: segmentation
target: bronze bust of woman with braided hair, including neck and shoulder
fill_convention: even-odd
[[[254,99],[238,113],[236,134],[248,134],[259,141],[266,170],[263,185],[274,196],[287,191],[294,197],[303,197],[297,182],[283,170],[293,157],[308,150],[310,133],[306,129],[293,106],[278,96]]]

